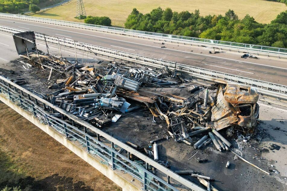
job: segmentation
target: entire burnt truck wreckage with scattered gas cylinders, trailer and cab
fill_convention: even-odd
[[[23,63],[62,73],[62,79],[47,87],[45,99],[78,119],[104,128],[142,111],[143,116],[152,114],[152,122],[164,121],[167,136],[146,142],[145,146],[126,143],[166,167],[170,164],[160,160],[158,141],[171,138],[194,149],[213,142],[218,151],[228,151],[231,143],[225,137],[233,136],[235,129],[243,133],[255,131],[259,94],[249,86],[216,83],[209,87],[190,85],[192,89],[187,89],[187,84],[192,84],[190,76],[168,67],[116,61],[108,64],[72,62],[37,50],[35,34],[31,31],[13,37]],[[180,95],[181,89],[187,93]],[[60,114],[54,116],[72,123]],[[80,124],[73,123],[73,126],[82,128]],[[198,140],[200,134],[205,135]]]

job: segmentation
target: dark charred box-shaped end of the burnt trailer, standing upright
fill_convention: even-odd
[[[33,31],[13,34],[18,55],[36,51],[36,38]]]

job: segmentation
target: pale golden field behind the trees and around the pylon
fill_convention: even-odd
[[[249,14],[260,23],[270,23],[280,12],[287,9],[283,3],[263,0],[83,0],[83,2],[87,15],[108,16],[111,18],[113,26],[121,27],[124,26],[132,8],[137,8],[142,13],[148,13],[157,7],[163,9],[170,7],[173,11],[178,12],[183,10],[193,12],[195,9],[199,9],[202,15],[225,14],[228,9],[233,9],[240,18]],[[71,0],[65,5],[32,16],[83,22],[83,20],[74,18],[75,12],[76,0]]]

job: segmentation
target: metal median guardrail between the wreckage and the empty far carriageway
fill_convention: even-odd
[[[16,28],[6,27],[6,26],[1,26],[1,25],[0,25],[0,30],[10,32],[10,33],[19,33],[19,32],[25,31],[25,30],[19,30]],[[42,36],[39,37],[40,35],[37,35],[36,33],[36,38],[37,36],[39,40],[44,40]],[[128,52],[121,52],[118,50],[113,50],[113,49],[108,49],[108,48],[104,48],[104,47],[100,47],[96,45],[90,45],[87,43],[77,42],[72,39],[66,39],[66,38],[46,35],[46,41],[51,42],[51,43],[53,42],[56,44],[60,43],[63,46],[68,46],[73,49],[76,48],[78,50],[88,51],[89,49],[95,54],[100,54],[100,55],[108,56],[112,58],[123,59],[126,61],[131,61],[131,62],[135,62],[135,63],[139,63],[139,64],[151,66],[151,67],[162,68],[162,67],[167,66],[171,70],[176,69],[178,71],[191,74],[194,77],[201,78],[204,80],[210,80],[210,81],[215,81],[219,83],[244,84],[247,86],[254,87],[255,89],[257,89],[258,92],[260,92],[263,95],[268,95],[268,96],[276,97],[279,99],[287,100],[287,86],[285,85],[270,83],[270,82],[266,82],[262,80],[256,80],[256,79],[237,76],[233,74],[227,74],[227,73],[218,72],[215,70],[194,67],[194,66],[175,63],[171,61],[164,61],[164,60],[160,60],[156,58],[148,58],[145,56],[136,55],[136,54],[132,54]]]

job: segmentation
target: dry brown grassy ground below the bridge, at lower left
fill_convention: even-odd
[[[0,190],[120,191],[115,183],[0,102]]]

